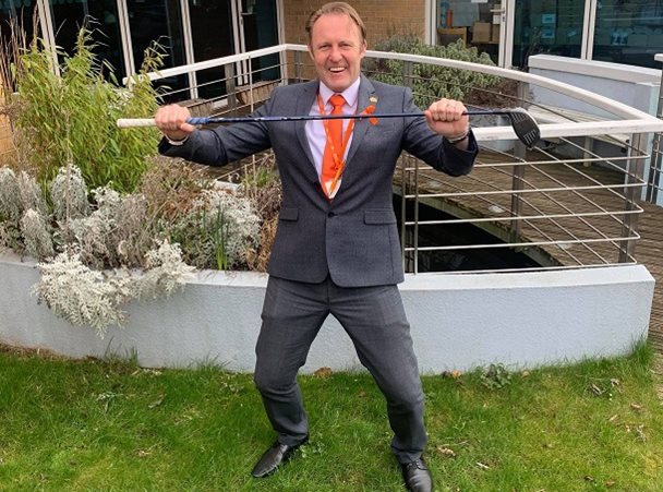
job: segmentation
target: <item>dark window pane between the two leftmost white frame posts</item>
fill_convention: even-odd
[[[94,52],[109,63],[118,80],[126,75],[116,0],[49,0],[56,44],[72,53],[81,27],[93,31]]]

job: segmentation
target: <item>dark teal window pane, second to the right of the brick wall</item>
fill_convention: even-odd
[[[583,0],[516,0],[514,67],[538,53],[580,58],[583,22]]]

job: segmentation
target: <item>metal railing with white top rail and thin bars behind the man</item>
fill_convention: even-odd
[[[218,82],[226,84],[225,95],[204,101],[205,108],[248,112],[267,97],[261,88],[313,76],[305,51],[304,46],[281,45],[149,76],[190,74],[191,79],[197,71],[224,67],[226,76]],[[238,71],[256,58],[274,53],[280,55],[277,80],[265,81],[261,73]],[[412,156],[401,157],[394,189],[400,195],[406,271],[522,271],[636,263],[637,218],[642,212],[637,200],[648,184],[648,136],[662,132],[663,121],[601,95],[523,72],[393,52],[367,51],[366,58],[402,62],[402,84],[410,86],[417,82],[413,69],[421,63],[516,81],[519,87],[510,96],[513,106],[530,110],[541,128],[540,145],[527,151],[507,122],[482,125],[472,121],[482,152],[467,177],[450,178]],[[577,98],[614,117],[569,115],[534,104],[529,97],[533,86]],[[195,94],[196,87],[188,91]],[[596,143],[602,148],[595,148]],[[656,145],[655,152],[660,148]],[[455,230],[468,226],[484,235],[471,233],[466,242],[457,240],[462,235]],[[481,256],[496,252],[523,261],[518,267],[465,262],[471,253]]]

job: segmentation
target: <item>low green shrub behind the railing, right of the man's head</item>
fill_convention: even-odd
[[[467,47],[461,39],[447,46],[430,46],[415,36],[393,36],[377,44],[375,49],[494,65],[487,53],[480,53],[477,48]],[[403,83],[402,61],[370,60],[365,70],[377,81],[389,84]],[[410,81],[414,103],[419,107],[427,107],[433,100],[442,97],[472,103],[475,94],[484,89],[497,88],[503,84],[503,80],[498,76],[427,63],[413,63]]]

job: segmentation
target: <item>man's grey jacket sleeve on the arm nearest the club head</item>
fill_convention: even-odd
[[[412,91],[403,91],[403,112],[420,112],[414,106]],[[479,152],[477,140],[470,132],[467,151],[462,151],[433,132],[424,118],[410,118],[403,134],[402,148],[427,165],[450,176],[468,175]]]

